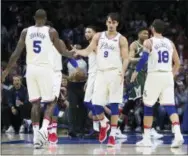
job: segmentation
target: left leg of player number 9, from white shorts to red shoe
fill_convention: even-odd
[[[92,103],[95,109],[95,114],[101,124],[99,141],[106,140],[107,131],[110,129],[110,125],[105,120],[104,105],[107,103],[107,80],[104,72],[98,72],[96,75],[94,91],[92,96]]]

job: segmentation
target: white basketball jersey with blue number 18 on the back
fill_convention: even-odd
[[[172,71],[172,42],[163,37],[152,37],[152,51],[148,59],[148,72]]]

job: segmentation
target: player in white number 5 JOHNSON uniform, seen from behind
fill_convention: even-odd
[[[2,74],[2,80],[10,72],[12,66],[20,57],[26,45],[26,62],[27,62],[27,87],[29,100],[33,104],[31,110],[31,119],[34,132],[34,147],[41,148],[47,141],[47,127],[52,117],[52,112],[56,98],[53,94],[53,66],[51,64],[50,53],[53,51],[53,45],[67,57],[73,53],[66,52],[66,46],[60,46],[59,35],[54,28],[45,26],[47,19],[46,12],[39,9],[35,12],[35,25],[25,28],[20,35],[16,49],[10,57],[7,68]],[[40,100],[48,103],[48,107],[43,119],[42,128],[39,130],[40,119]]]

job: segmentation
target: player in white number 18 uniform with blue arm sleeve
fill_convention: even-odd
[[[152,146],[150,130],[153,122],[152,106],[159,98],[170,117],[174,127],[175,139],[172,148],[180,147],[183,136],[180,131],[179,117],[174,102],[174,76],[180,67],[180,59],[176,47],[172,41],[162,36],[164,22],[157,19],[152,23],[153,37],[144,41],[144,49],[136,71],[133,73],[131,82],[140,72],[148,60],[148,74],[144,86],[144,136],[137,143],[138,146]],[[172,62],[174,63],[172,66]]]

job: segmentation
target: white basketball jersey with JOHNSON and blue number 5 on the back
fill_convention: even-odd
[[[53,53],[53,44],[49,35],[49,27],[31,26],[27,29],[26,35],[26,63],[53,68],[50,61],[50,53]]]

